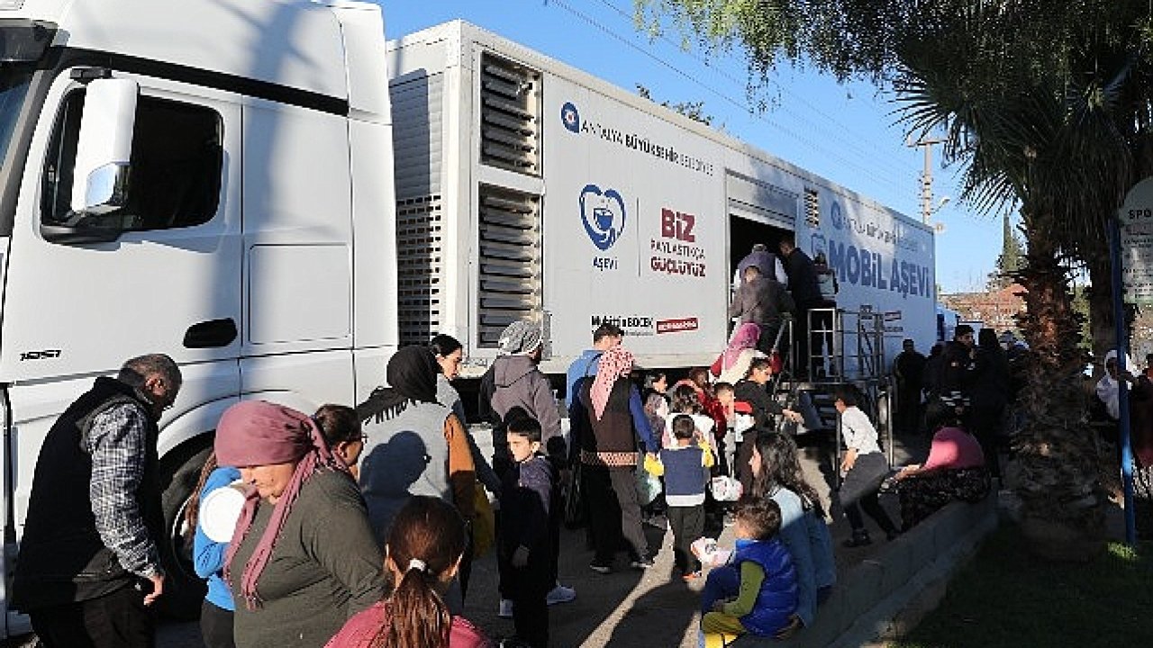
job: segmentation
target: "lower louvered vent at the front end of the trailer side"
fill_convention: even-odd
[[[541,317],[541,198],[481,187],[477,346],[517,319]]]

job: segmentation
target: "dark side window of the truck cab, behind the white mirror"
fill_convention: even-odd
[[[73,167],[83,90],[70,92],[56,118],[40,193],[45,225],[74,221]],[[114,214],[123,231],[191,227],[212,219],[220,196],[220,115],[210,108],[141,97],[136,105],[128,204]]]

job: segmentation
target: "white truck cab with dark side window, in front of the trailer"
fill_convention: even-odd
[[[0,596],[48,428],[125,360],[184,376],[159,440],[175,610],[202,592],[182,506],[224,409],[383,384],[384,43],[379,7],[342,0],[0,0]],[[28,630],[5,610],[0,635]]]

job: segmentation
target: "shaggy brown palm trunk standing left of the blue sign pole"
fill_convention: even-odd
[[[1018,322],[1030,346],[1019,399],[1026,423],[1013,439],[1016,460],[1007,482],[1020,497],[1022,530],[1035,553],[1087,560],[1105,547],[1106,495],[1098,480],[1098,446],[1083,422],[1080,317],[1047,228],[1025,232],[1027,265],[1020,280],[1028,291],[1027,312]]]

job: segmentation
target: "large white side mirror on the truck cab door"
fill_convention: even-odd
[[[135,81],[98,78],[88,84],[73,172],[71,210],[77,214],[99,216],[125,206],[137,97]]]

